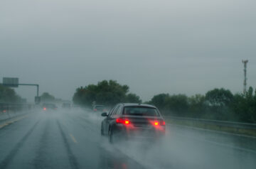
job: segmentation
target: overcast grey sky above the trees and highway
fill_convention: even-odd
[[[0,78],[63,99],[100,80],[144,101],[242,92],[242,59],[256,87],[255,30],[255,0],[1,0]],[[28,101],[36,94],[16,91]]]

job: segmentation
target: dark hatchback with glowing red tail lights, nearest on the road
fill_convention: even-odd
[[[101,135],[110,143],[119,139],[139,138],[156,141],[165,135],[165,121],[159,110],[149,104],[117,104],[101,124]]]

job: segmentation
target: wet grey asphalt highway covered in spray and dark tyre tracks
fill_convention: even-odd
[[[110,145],[99,114],[28,114],[0,129],[0,168],[256,168],[255,138],[168,126],[158,145]]]

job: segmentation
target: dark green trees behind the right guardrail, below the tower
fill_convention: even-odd
[[[206,94],[157,94],[149,102],[166,116],[183,116],[223,121],[256,122],[256,91],[233,94],[228,89],[213,89]]]

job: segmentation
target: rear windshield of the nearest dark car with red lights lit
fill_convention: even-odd
[[[159,112],[153,107],[124,107],[123,114],[133,116],[159,116]]]

